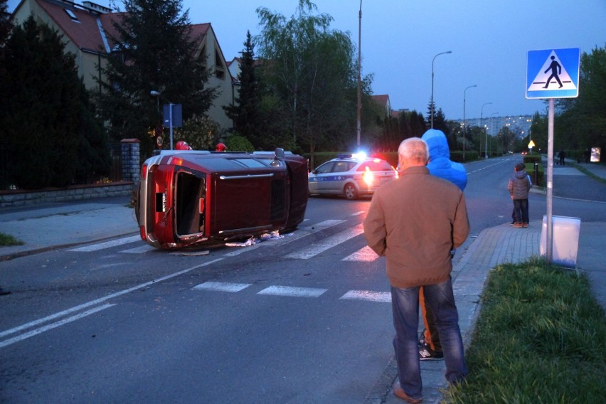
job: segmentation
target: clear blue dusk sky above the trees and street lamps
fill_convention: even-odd
[[[78,1],[80,2],[80,1]],[[109,0],[92,1],[110,6]],[[13,11],[18,0],[9,0]],[[117,1],[117,4],[122,4]],[[225,60],[243,50],[246,31],[260,32],[257,7],[289,18],[297,0],[184,0],[191,23],[211,23]],[[431,98],[447,119],[532,115],[543,100],[526,100],[529,50],[606,46],[606,0],[316,0],[331,28],[349,31],[358,46],[362,4],[362,75],[373,74],[373,94],[388,94],[394,110],[426,115]],[[356,53],[357,57],[357,53]],[[465,89],[471,85],[477,85]],[[583,92],[583,87],[579,88]],[[484,105],[491,102],[490,105]],[[482,105],[484,105],[482,109]]]

